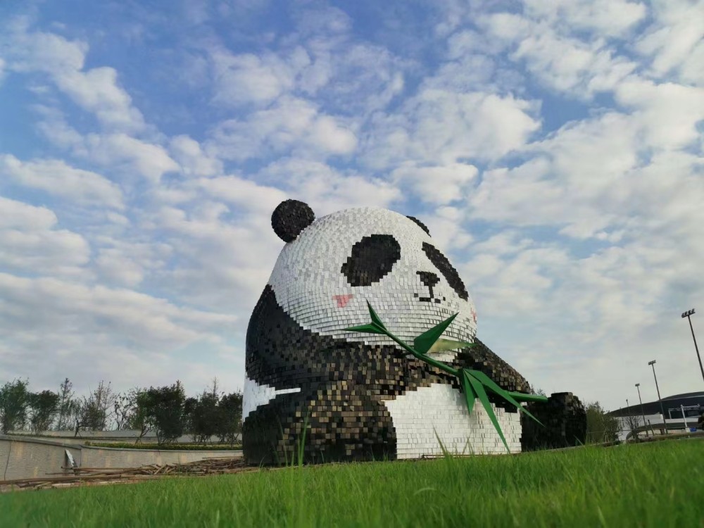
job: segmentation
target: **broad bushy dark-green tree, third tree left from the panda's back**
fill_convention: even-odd
[[[180,381],[172,386],[149,387],[144,396],[149,425],[159,444],[171,444],[183,434],[186,393]]]

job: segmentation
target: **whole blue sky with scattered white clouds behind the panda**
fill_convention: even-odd
[[[704,3],[0,3],[0,382],[213,376],[279,201],[415,215],[479,337],[617,408],[704,389]]]

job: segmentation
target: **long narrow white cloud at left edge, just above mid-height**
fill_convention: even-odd
[[[0,155],[0,175],[75,203],[125,208],[118,185],[96,172],[73,168],[61,160],[22,162],[4,154]]]

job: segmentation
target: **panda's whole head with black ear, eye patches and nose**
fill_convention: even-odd
[[[272,227],[287,244],[269,284],[279,306],[304,329],[390,344],[382,335],[344,331],[369,322],[369,301],[386,327],[409,344],[454,313],[443,337],[474,339],[472,298],[420,220],[380,208],[346,209],[315,220],[306,203],[287,200],[274,211]]]

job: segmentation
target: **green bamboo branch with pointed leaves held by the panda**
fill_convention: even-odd
[[[496,432],[498,432],[498,436],[501,437],[501,441],[503,441],[503,445],[505,446],[506,451],[510,453],[510,449],[508,448],[506,439],[503,436],[503,431],[501,431],[501,426],[498,425],[498,420],[496,419],[494,410],[491,408],[491,403],[489,403],[489,396],[487,396],[486,394],[486,389],[489,389],[489,391],[494,392],[494,394],[498,394],[498,396],[501,396],[501,398],[505,399],[505,401],[508,401],[513,406],[515,406],[521,413],[525,413],[533,420],[538,422],[540,425],[542,425],[536,417],[534,417],[531,413],[522,408],[522,406],[518,402],[548,401],[548,398],[546,398],[546,396],[538,396],[536,394],[524,394],[522,392],[505,391],[504,389],[501,389],[501,387],[498,386],[496,383],[494,383],[494,380],[484,374],[484,372],[481,372],[479,370],[470,370],[467,368],[453,368],[450,365],[447,365],[446,363],[442,363],[441,361],[435,360],[427,356],[428,352],[437,352],[441,350],[451,350],[453,348],[460,348],[465,346],[474,346],[474,343],[466,343],[465,341],[439,339],[442,333],[445,332],[445,329],[450,326],[450,323],[453,322],[455,317],[457,317],[456,313],[451,318],[444,320],[439,325],[432,327],[427,332],[423,332],[422,334],[420,334],[420,336],[413,339],[413,347],[411,347],[401,341],[401,339],[398,339],[398,337],[396,337],[394,334],[391,334],[388,329],[386,329],[386,326],[384,326],[382,320],[379,319],[379,315],[377,315],[377,313],[374,311],[369,301],[367,301],[367,306],[369,307],[369,315],[372,318],[372,322],[368,323],[367,325],[359,325],[356,327],[346,328],[345,330],[347,332],[382,334],[387,337],[390,337],[391,339],[396,341],[396,343],[401,345],[404,350],[410,352],[416,358],[425,361],[425,363],[439,368],[440,370],[444,370],[444,372],[448,372],[448,374],[458,377],[465,393],[465,400],[467,401],[467,412],[472,413],[472,409],[474,408],[474,400],[476,398],[479,398],[479,401],[482,402],[482,406],[484,406],[484,410],[486,410],[486,414],[489,415],[489,418],[491,419],[491,423],[493,423],[494,427],[496,427]]]

